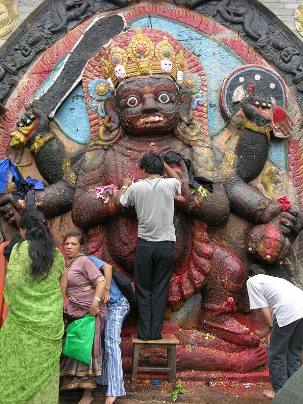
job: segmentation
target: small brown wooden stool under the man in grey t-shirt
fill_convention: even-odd
[[[172,383],[172,390],[176,388],[176,344],[179,343],[174,335],[163,335],[162,339],[143,341],[138,339],[136,334],[131,334],[133,343],[133,357],[131,366],[131,391],[136,388],[137,372],[144,373],[161,373],[168,372],[168,380]],[[138,367],[140,348],[166,348],[167,363],[166,367]]]

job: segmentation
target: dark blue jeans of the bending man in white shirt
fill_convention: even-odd
[[[300,366],[303,318],[279,327],[274,319],[268,352],[270,381],[277,392]]]

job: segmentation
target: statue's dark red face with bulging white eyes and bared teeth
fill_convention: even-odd
[[[166,77],[125,80],[116,94],[116,110],[123,129],[132,136],[171,132],[180,118],[180,94]]]

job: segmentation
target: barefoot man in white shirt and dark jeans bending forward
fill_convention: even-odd
[[[266,275],[258,265],[248,268],[247,291],[250,309],[260,309],[268,326],[257,330],[270,342],[268,366],[273,398],[300,366],[303,344],[303,291],[282,278]]]

